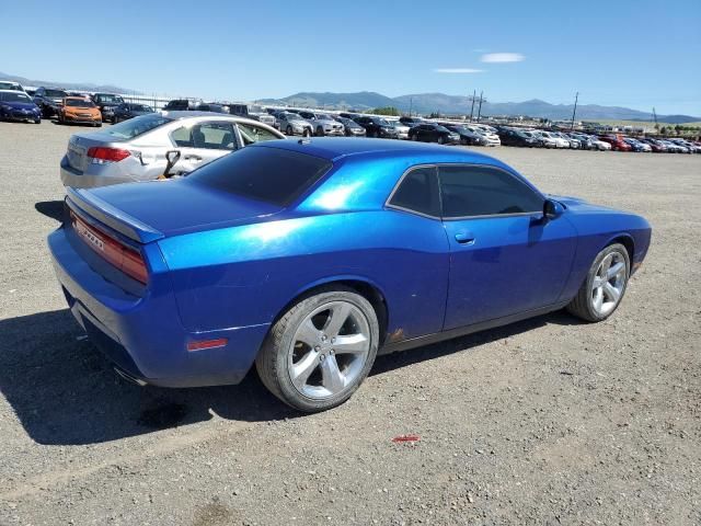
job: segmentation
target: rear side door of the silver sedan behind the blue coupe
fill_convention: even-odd
[[[237,130],[226,121],[185,124],[170,134],[181,152],[172,173],[189,173],[239,148]]]

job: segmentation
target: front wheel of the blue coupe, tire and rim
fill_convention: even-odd
[[[630,276],[630,256],[625,247],[610,244],[598,253],[579,291],[567,310],[586,321],[602,321],[623,299]]]

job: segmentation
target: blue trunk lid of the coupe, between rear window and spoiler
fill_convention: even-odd
[[[165,236],[250,222],[281,210],[187,179],[117,184],[88,192],[91,201],[96,197]]]

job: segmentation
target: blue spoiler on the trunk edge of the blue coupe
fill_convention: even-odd
[[[71,208],[78,208],[83,213],[94,217],[99,221],[123,233],[129,239],[139,243],[150,243],[165,236],[137,218],[115,208],[110,203],[102,201],[89,190],[66,188],[68,195],[66,204]]]

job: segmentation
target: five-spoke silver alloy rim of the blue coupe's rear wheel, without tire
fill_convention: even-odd
[[[318,307],[300,323],[289,348],[287,369],[295,388],[320,400],[354,385],[370,351],[370,325],[349,301]]]

